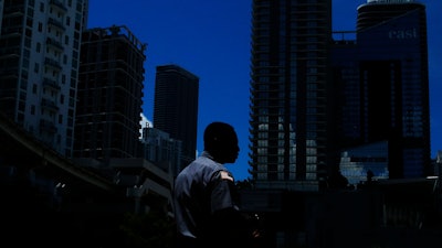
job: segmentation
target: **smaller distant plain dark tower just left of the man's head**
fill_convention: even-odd
[[[197,153],[198,91],[198,76],[178,65],[157,66],[152,122],[171,139],[182,141],[181,166]]]

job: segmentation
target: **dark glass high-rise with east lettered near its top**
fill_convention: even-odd
[[[424,176],[431,163],[425,6],[367,1],[358,8],[357,43],[360,137],[388,141],[390,179]]]

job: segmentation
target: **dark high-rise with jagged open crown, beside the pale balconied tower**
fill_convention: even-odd
[[[75,158],[140,157],[145,50],[126,26],[83,32]]]

